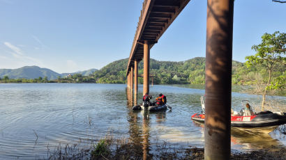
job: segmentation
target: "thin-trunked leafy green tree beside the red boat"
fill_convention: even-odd
[[[275,89],[269,87],[271,83],[271,75],[273,71],[279,64],[286,65],[286,34],[276,31],[273,34],[264,33],[262,35],[262,42],[259,45],[253,45],[251,49],[255,50],[257,53],[255,56],[246,56],[247,67],[252,67],[253,65],[262,65],[266,68],[269,76],[264,88],[263,98],[262,98],[262,111],[264,111],[264,103],[266,91],[269,89]]]

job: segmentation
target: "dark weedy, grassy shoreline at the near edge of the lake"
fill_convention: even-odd
[[[155,149],[144,143],[132,143],[126,139],[103,138],[88,149],[77,145],[57,146],[48,152],[47,159],[204,159],[204,148],[157,144]],[[272,146],[250,152],[232,152],[231,159],[286,159],[286,148]]]

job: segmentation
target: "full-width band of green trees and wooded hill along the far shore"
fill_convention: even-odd
[[[197,57],[188,61],[156,61],[151,59],[150,73],[154,84],[204,84],[205,58]],[[35,79],[10,79],[7,75],[0,77],[0,83],[126,83],[126,68],[128,58],[114,61],[88,76],[82,74],[68,74],[57,79],[38,77]],[[286,72],[283,65],[276,65],[272,79],[285,79]],[[138,73],[143,74],[143,61],[138,65]],[[253,85],[256,90],[268,80],[268,72],[262,65],[247,67],[246,63],[232,62],[232,84]],[[143,78],[138,78],[143,83]],[[257,91],[258,92],[258,91]]]

